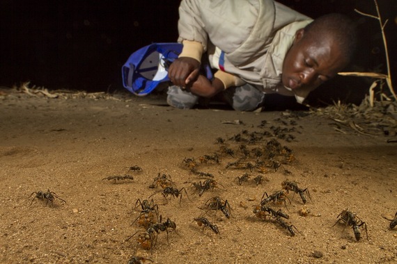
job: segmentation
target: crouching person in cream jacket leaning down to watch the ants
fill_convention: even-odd
[[[274,93],[302,103],[348,65],[355,49],[347,17],[313,21],[273,0],[182,0],[179,13],[183,49],[169,67],[167,97],[176,108],[219,93],[235,110],[255,110]],[[217,69],[213,80],[200,73],[203,59]]]

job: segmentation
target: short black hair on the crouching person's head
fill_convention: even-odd
[[[304,28],[304,33],[314,34],[314,38],[321,38],[324,33],[332,34],[348,63],[357,49],[357,23],[340,13],[330,13],[314,19]]]

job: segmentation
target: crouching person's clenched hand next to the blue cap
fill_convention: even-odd
[[[186,87],[198,78],[200,62],[194,58],[181,57],[173,61],[168,76],[175,85]]]

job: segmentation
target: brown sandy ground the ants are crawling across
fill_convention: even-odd
[[[384,218],[397,211],[397,145],[387,142],[396,131],[368,136],[304,112],[176,110],[163,97],[132,94],[50,99],[3,91],[0,98],[0,263],[397,260],[397,227]],[[105,179],[126,174],[133,180]],[[164,179],[154,181],[158,175]],[[217,185],[200,196],[193,183],[207,179]],[[265,192],[286,180],[307,188],[306,204],[290,191],[262,201],[289,219],[256,215]],[[167,186],[182,197],[163,196]],[[47,190],[54,201],[40,199]],[[214,206],[216,196],[222,202]],[[148,213],[138,199],[153,199]],[[336,223],[345,209],[357,214],[352,222],[365,222],[359,241],[352,224]],[[143,227],[157,211],[162,222]]]

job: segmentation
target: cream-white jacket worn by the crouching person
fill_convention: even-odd
[[[309,94],[281,84],[283,60],[309,17],[272,0],[182,0],[179,11],[178,41],[202,43],[211,67],[219,69],[224,51],[225,72],[263,92],[295,96],[299,103]]]

